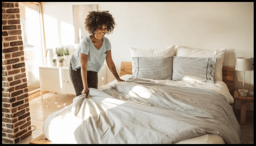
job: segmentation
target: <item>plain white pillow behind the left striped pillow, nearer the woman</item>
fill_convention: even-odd
[[[174,55],[175,45],[165,48],[139,49],[130,47],[131,56],[133,57],[167,57]],[[132,60],[133,64],[133,60]],[[132,68],[132,72],[134,72]]]

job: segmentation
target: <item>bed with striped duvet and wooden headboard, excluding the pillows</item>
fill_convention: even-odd
[[[240,143],[240,126],[230,106],[233,67],[223,66],[223,81],[211,84],[135,77],[133,64],[136,60],[121,63],[120,78],[125,82],[90,88],[87,98],[75,97],[71,105],[50,115],[41,139],[93,144]]]

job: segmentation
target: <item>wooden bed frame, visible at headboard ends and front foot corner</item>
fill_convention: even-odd
[[[234,67],[223,66],[222,67],[222,80],[227,84],[230,94],[234,97]],[[125,74],[132,74],[132,62],[121,62],[120,74],[123,76]],[[233,108],[233,104],[230,104]],[[52,141],[49,141],[44,134],[35,138],[29,144],[54,144]]]

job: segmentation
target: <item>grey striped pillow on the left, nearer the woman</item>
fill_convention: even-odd
[[[172,80],[173,55],[167,57],[133,57],[133,77]]]

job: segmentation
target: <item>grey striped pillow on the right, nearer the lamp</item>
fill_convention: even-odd
[[[214,83],[217,58],[173,57],[173,81],[201,81]]]

